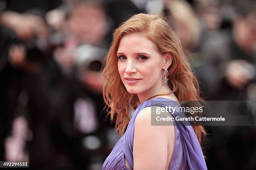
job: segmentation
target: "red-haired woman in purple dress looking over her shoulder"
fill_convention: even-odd
[[[115,30],[103,75],[104,99],[121,136],[103,170],[207,169],[203,127],[151,126],[153,106],[200,100],[180,41],[160,16],[133,15]]]

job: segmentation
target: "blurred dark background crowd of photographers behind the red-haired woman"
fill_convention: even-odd
[[[205,100],[256,100],[255,0],[0,0],[1,161],[101,170],[118,140],[101,67],[113,30],[141,12],[169,21]],[[255,126],[206,130],[209,170],[256,169]]]

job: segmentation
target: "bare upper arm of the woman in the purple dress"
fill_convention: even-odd
[[[174,126],[151,126],[151,107],[136,117],[133,140],[134,170],[164,170],[169,167],[175,143]]]

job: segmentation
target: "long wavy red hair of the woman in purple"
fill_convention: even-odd
[[[118,73],[117,50],[121,38],[131,33],[145,33],[147,38],[156,44],[160,53],[172,54],[172,65],[169,71],[169,87],[179,101],[202,101],[200,88],[195,75],[192,73],[179,38],[163,18],[153,14],[137,14],[122,23],[113,34],[113,41],[106,58],[106,66],[102,72],[106,81],[103,85],[103,97],[108,115],[115,120],[115,129],[120,136],[124,133],[129,123],[129,112],[139,105],[137,94],[129,94],[125,89]],[[205,129],[192,126],[197,139],[201,142],[201,135]]]

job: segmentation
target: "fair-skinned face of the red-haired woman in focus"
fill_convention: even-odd
[[[123,36],[118,47],[118,71],[131,94],[155,93],[161,87],[163,54],[141,33]]]

